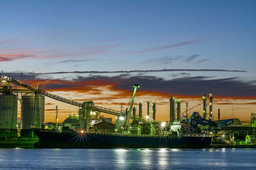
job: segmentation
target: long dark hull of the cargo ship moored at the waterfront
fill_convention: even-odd
[[[39,137],[35,148],[207,148],[211,137],[132,136],[33,129]]]

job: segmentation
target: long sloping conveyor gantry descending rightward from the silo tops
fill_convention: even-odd
[[[1,82],[8,81],[9,83],[13,83],[14,85],[24,87],[26,89],[29,89],[29,90],[33,91],[33,92],[36,92],[38,94],[42,94],[43,96],[50,97],[51,99],[55,99],[55,100],[61,101],[63,103],[71,104],[71,105],[74,105],[74,106],[79,106],[81,108],[86,108],[86,109],[90,109],[90,110],[100,111],[102,113],[108,113],[110,115],[115,115],[115,116],[118,116],[121,113],[121,111],[112,110],[112,109],[109,109],[109,108],[103,108],[103,107],[100,107],[100,106],[94,106],[94,105],[90,105],[90,104],[86,105],[86,104],[83,104],[83,103],[79,103],[77,101],[72,101],[70,99],[66,99],[64,97],[60,97],[60,96],[51,94],[49,92],[46,92],[45,90],[42,90],[40,88],[31,87],[29,85],[26,85],[25,83],[17,81],[14,78],[11,78],[11,77],[8,77],[8,76],[3,76],[1,79],[2,79]]]

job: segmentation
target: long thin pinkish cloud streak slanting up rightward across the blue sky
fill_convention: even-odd
[[[127,53],[155,52],[155,51],[165,50],[165,49],[173,48],[173,47],[177,47],[177,46],[192,45],[194,43],[198,43],[198,42],[204,41],[204,40],[205,40],[204,38],[201,38],[201,39],[196,39],[196,40],[193,40],[193,41],[184,41],[182,43],[177,43],[177,44],[173,44],[173,45],[157,46],[155,48],[148,48],[148,49],[145,49],[145,50],[138,50],[138,51],[135,51],[135,52],[127,52]]]

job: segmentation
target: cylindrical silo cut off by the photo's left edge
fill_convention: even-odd
[[[17,96],[0,93],[0,137],[17,136]]]

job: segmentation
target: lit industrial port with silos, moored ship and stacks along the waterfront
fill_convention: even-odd
[[[17,89],[14,87],[22,87]],[[0,79],[0,147],[24,148],[209,148],[255,147],[256,114],[251,124],[241,125],[237,118],[212,118],[213,94],[202,96],[202,104],[180,111],[180,99],[170,97],[170,121],[156,120],[156,102],[147,101],[147,115],[138,111],[134,97],[140,85],[135,84],[131,103],[126,110],[95,106],[93,101],[79,103],[56,96],[41,87],[31,87],[8,76]],[[62,124],[45,122],[45,97],[77,106],[77,115],[70,115]],[[209,98],[209,102],[207,102]],[[20,122],[17,106],[20,101]],[[202,115],[189,111],[203,106]],[[207,110],[209,108],[209,110]],[[150,109],[152,112],[150,112]],[[100,113],[115,115],[100,117]],[[151,117],[150,117],[151,116]]]

